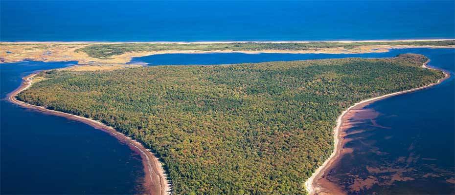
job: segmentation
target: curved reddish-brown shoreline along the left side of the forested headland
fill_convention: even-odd
[[[35,77],[38,73],[30,74],[23,78],[22,84],[15,89],[13,92],[7,95],[8,101],[22,106],[24,108],[30,108],[37,110],[39,112],[43,112],[45,114],[51,114],[59,117],[66,117],[71,120],[76,120],[79,122],[86,123],[92,126],[95,129],[104,131],[109,133],[111,136],[115,137],[122,143],[126,143],[133,151],[139,154],[142,158],[142,164],[144,167],[144,189],[146,190],[147,194],[149,195],[169,195],[171,191],[170,183],[166,178],[166,174],[164,173],[163,167],[159,162],[159,159],[147,148],[145,148],[141,143],[137,142],[136,140],[132,139],[131,137],[127,137],[124,134],[117,132],[113,127],[107,126],[99,121],[80,117],[60,111],[49,110],[41,106],[36,106],[32,104],[25,103],[16,99],[16,96],[21,93],[23,90],[29,88],[33,84],[33,77]]]

